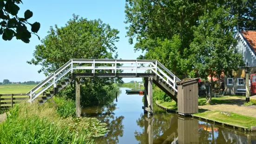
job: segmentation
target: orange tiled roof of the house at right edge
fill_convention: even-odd
[[[239,31],[251,50],[256,53],[256,31]]]

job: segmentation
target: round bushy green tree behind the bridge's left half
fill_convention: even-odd
[[[117,49],[115,42],[119,39],[118,33],[117,29],[112,29],[101,20],[87,20],[73,15],[66,26],[50,28],[46,38],[41,40],[42,44],[35,47],[34,58],[28,63],[41,65],[39,72],[48,76],[70,59],[116,59],[118,55],[115,53]],[[89,71],[74,70],[74,72]],[[100,72],[109,71],[100,70]],[[105,101],[111,101],[108,96],[115,97],[115,92],[107,91],[112,89],[118,91],[112,85],[116,81],[122,82],[121,79],[116,78],[82,79],[82,102],[91,105],[94,102],[103,104]],[[60,94],[75,98],[74,90],[75,87],[71,84]],[[90,103],[88,101],[90,99],[93,102]]]

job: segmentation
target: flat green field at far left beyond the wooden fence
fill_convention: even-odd
[[[26,93],[33,89],[36,85],[25,85],[25,84],[8,84],[0,85],[0,94],[19,94]]]

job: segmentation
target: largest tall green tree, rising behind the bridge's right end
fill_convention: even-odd
[[[194,29],[199,18],[217,6],[228,12],[226,20],[236,20],[228,27],[221,25],[223,31],[256,29],[255,0],[126,0],[127,37],[131,44],[135,41],[135,50],[145,51],[139,59],[157,59],[178,76],[198,75],[190,61]]]

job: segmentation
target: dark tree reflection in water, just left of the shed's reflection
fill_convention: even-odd
[[[156,108],[154,107],[154,109]],[[148,143],[148,139],[146,137],[147,133],[145,133],[145,127],[147,129],[147,126],[149,124],[149,122],[146,120],[147,118],[147,115],[144,115],[142,113],[140,115],[140,118],[138,118],[137,120],[138,126],[140,126],[143,129],[142,132],[134,132],[135,138],[137,139],[137,141],[140,142],[140,144]],[[177,118],[173,114],[165,113],[162,111],[155,112],[154,115],[152,116],[151,124],[153,126],[154,144],[163,142],[173,132],[177,133]]]

